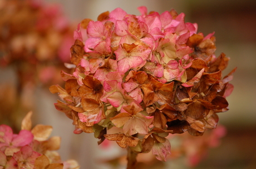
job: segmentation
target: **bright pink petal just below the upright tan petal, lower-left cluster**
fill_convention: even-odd
[[[12,141],[14,147],[25,146],[33,141],[33,134],[28,130],[21,130]]]

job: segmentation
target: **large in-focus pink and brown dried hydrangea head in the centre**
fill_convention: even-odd
[[[214,33],[196,33],[184,13],[138,9],[140,16],[116,8],[97,21],[83,19],[71,47],[76,69],[61,72],[65,89],[50,91],[59,93],[55,107],[73,120],[75,133],[94,132],[98,144],[112,140],[166,161],[169,134],[200,136],[216,127],[235,69],[222,76],[229,58],[215,57]],[[107,133],[113,126],[121,132]]]

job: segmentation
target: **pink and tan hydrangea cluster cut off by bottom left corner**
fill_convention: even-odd
[[[55,151],[60,148],[60,137],[48,139],[51,126],[36,125],[31,129],[31,115],[28,112],[24,117],[18,134],[13,134],[11,127],[0,125],[0,168],[78,169],[74,160],[61,161]]]

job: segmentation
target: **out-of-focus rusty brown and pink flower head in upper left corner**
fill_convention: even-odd
[[[16,66],[21,84],[61,83],[56,77],[70,62],[75,27],[60,4],[3,0],[0,12],[0,65]]]

